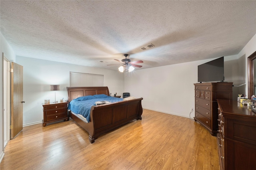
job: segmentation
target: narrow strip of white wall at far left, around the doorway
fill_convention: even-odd
[[[0,162],[4,157],[4,95],[3,95],[3,55],[9,61],[15,61],[15,53],[0,33]]]

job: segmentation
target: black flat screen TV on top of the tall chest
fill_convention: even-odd
[[[198,82],[224,81],[224,57],[198,65]]]

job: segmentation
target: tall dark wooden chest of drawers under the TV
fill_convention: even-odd
[[[217,99],[232,100],[233,83],[195,83],[194,120],[207,128],[213,136],[218,132]]]

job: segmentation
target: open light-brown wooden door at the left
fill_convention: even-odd
[[[12,62],[11,69],[11,139],[23,128],[23,66]]]

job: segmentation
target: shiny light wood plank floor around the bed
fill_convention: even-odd
[[[219,170],[215,136],[194,120],[144,109],[142,120],[99,136],[72,119],[24,127],[1,170]]]

